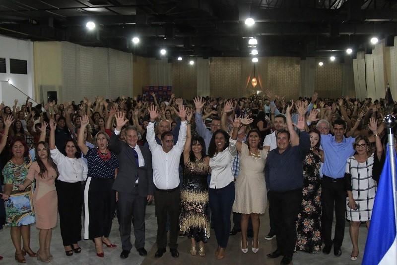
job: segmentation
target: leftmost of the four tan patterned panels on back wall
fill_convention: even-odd
[[[197,96],[197,61],[194,60],[194,65],[190,65],[189,61],[172,62],[172,92],[186,99]]]

